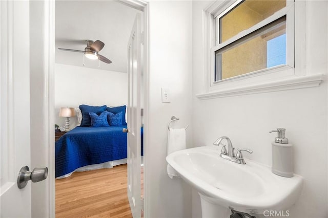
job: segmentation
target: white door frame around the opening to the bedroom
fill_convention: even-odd
[[[48,120],[45,126],[48,129],[43,132],[44,137],[49,141],[49,217],[55,217],[55,143],[54,143],[54,66],[55,66],[55,1],[44,1],[45,13],[45,112],[48,113]],[[149,90],[149,3],[141,0],[118,0],[118,2],[144,12],[144,154],[148,154],[148,90]],[[48,87],[47,87],[48,86]],[[144,156],[144,178],[147,178],[147,156]],[[148,215],[147,203],[147,181],[144,180],[144,217]],[[33,208],[32,208],[33,209]],[[37,209],[37,208],[35,208]]]

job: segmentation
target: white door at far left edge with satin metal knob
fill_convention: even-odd
[[[29,2],[2,0],[0,16],[0,216],[31,217],[31,181],[17,185],[31,162]]]

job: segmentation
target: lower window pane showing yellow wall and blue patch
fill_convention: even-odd
[[[285,64],[286,17],[215,52],[215,81]]]

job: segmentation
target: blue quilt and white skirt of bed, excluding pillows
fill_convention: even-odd
[[[74,171],[110,168],[127,163],[127,133],[122,128],[75,127],[55,144],[56,178],[70,176]],[[141,155],[143,155],[141,127]]]

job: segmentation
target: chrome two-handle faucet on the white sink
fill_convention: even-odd
[[[221,141],[223,139],[226,139],[227,142],[228,142],[228,152],[227,152],[227,149],[226,149],[226,145],[221,143]],[[239,148],[237,148],[237,154],[235,155],[235,152],[234,152],[235,148],[232,146],[231,140],[229,139],[228,136],[219,137],[213,144],[217,145],[217,146],[219,146],[220,144],[222,145],[222,150],[221,150],[221,154],[220,154],[221,158],[224,158],[226,160],[229,160],[229,161],[232,161],[232,162],[235,162],[235,163],[239,163],[239,164],[245,164],[245,161],[244,161],[244,158],[241,154],[241,151],[244,150],[244,151],[249,152],[250,154],[253,153],[253,151],[250,150],[250,149],[239,149]]]

